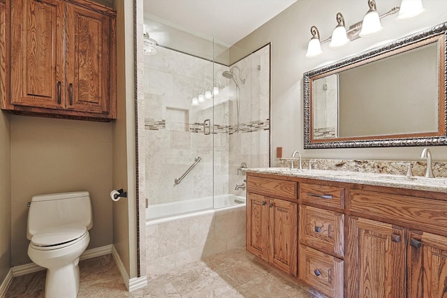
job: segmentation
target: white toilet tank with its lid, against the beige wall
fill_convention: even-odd
[[[79,223],[87,230],[93,226],[88,191],[35,195],[28,210],[27,238],[45,228]]]

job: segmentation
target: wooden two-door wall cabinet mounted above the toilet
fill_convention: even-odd
[[[89,0],[6,0],[4,20],[2,109],[116,118],[114,10]]]

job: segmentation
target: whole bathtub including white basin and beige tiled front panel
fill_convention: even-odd
[[[203,257],[242,248],[245,198],[219,195],[149,205],[146,209],[147,274],[162,274]]]

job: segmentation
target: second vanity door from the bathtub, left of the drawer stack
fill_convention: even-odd
[[[293,276],[297,275],[297,204],[270,198],[269,261]]]

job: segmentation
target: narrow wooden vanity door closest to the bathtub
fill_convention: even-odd
[[[247,251],[268,261],[268,198],[247,193]]]

